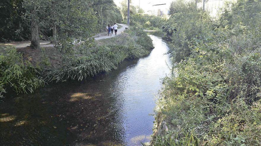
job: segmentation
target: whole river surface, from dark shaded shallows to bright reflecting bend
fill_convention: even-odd
[[[155,96],[170,73],[161,33],[155,48],[117,70],[15,95],[0,107],[2,145],[141,145],[151,139]],[[12,96],[12,95],[10,95]]]

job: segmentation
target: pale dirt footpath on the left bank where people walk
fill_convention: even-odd
[[[121,25],[122,27],[118,29],[117,35],[121,34],[125,30],[125,27],[128,27],[128,25],[125,25],[125,24],[119,24],[119,25]],[[112,36],[108,36],[107,32],[102,32],[102,33],[95,35],[94,39],[95,40],[108,39],[111,37],[115,37],[117,35],[115,35],[114,31],[113,31]],[[30,46],[30,41],[0,43],[0,46],[6,46],[6,45],[15,46],[16,48],[23,48],[23,47]],[[53,47],[54,45],[51,44],[50,41],[40,40],[40,46],[41,47]]]

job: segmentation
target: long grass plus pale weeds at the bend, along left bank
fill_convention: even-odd
[[[149,53],[153,48],[152,40],[140,29],[128,29],[127,43],[124,45],[103,45],[92,47],[80,45],[81,56],[69,56],[58,68],[48,68],[43,76],[47,82],[83,80],[100,72],[109,72],[126,58],[138,58]]]

